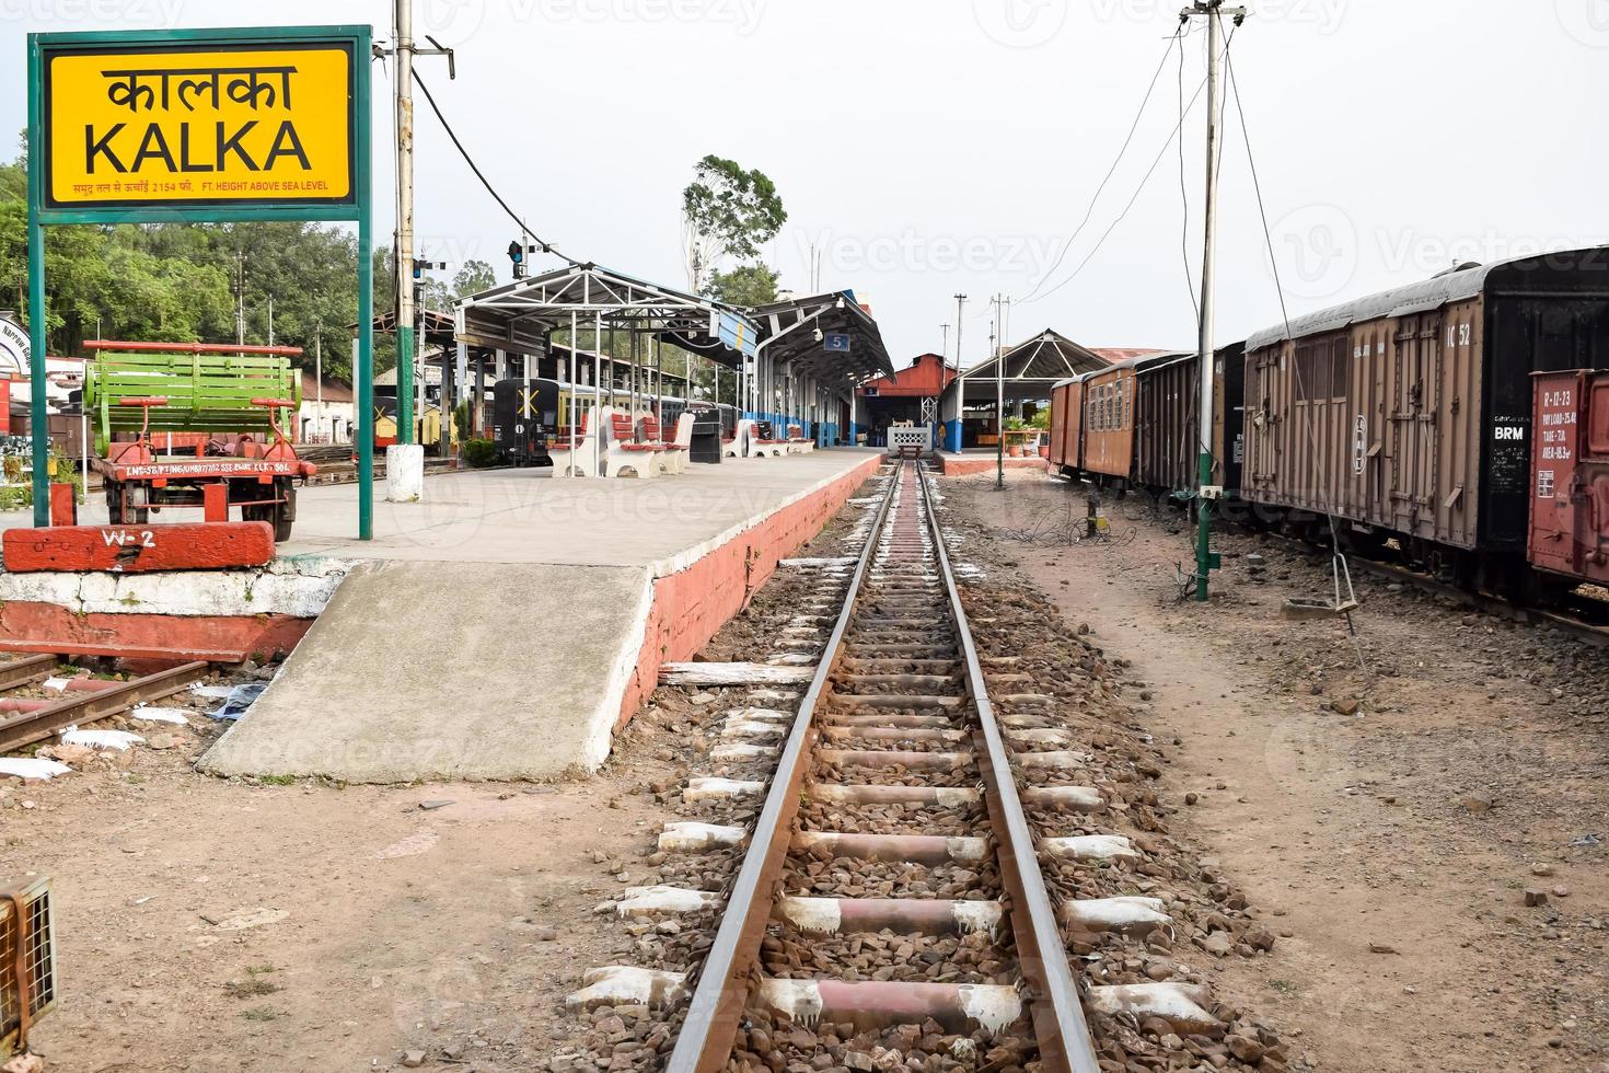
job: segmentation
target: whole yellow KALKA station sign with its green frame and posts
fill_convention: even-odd
[[[50,524],[45,228],[357,224],[357,536],[373,537],[373,236],[367,26],[27,37],[34,524]]]

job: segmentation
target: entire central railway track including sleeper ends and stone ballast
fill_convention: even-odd
[[[853,555],[785,561],[774,655],[661,671],[743,706],[693,742],[713,775],[682,785],[658,882],[597,906],[652,967],[584,970],[589,1042],[550,1068],[1284,1073],[1195,960],[1273,935],[1158,837],[1157,748],[1099,650],[1031,647],[1043,610],[951,566],[922,471],[877,481]]]

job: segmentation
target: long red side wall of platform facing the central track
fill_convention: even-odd
[[[843,476],[788,504],[687,569],[655,579],[642,648],[621,698],[616,726],[626,726],[648,700],[663,664],[692,660],[710,643],[716,631],[742,611],[776,573],[777,563],[814,539],[885,460],[883,455],[869,455]]]

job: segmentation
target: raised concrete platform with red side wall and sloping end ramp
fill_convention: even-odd
[[[201,767],[344,782],[552,779],[611,734],[854,494],[882,455],[692,467],[676,481],[539,470],[431,478],[426,502],[309,489],[290,563],[349,568],[274,685]]]

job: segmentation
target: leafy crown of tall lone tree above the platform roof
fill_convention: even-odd
[[[753,261],[787,222],[776,183],[761,172],[743,171],[737,161],[706,156],[682,190],[682,238],[687,249],[687,283],[695,293],[721,261]]]

